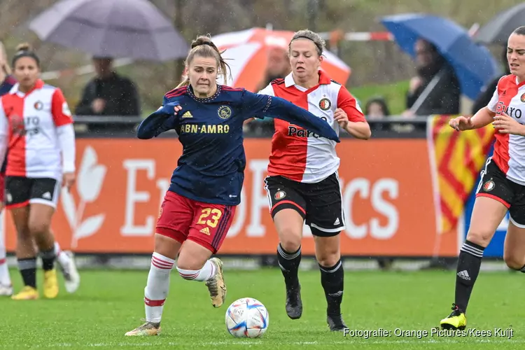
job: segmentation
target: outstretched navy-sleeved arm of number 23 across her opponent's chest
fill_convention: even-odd
[[[265,94],[254,94],[253,92],[244,92],[244,109],[250,111],[246,113],[246,118],[253,116],[267,116],[286,120],[288,123],[299,125],[304,129],[310,130],[321,137],[341,142],[335,131],[321,118],[317,118],[309,111],[295,106],[295,104]]]

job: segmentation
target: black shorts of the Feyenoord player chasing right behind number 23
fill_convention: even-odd
[[[337,173],[318,183],[302,183],[283,176],[268,176],[265,183],[272,218],[282,209],[293,209],[309,225],[312,235],[332,237],[344,230]]]

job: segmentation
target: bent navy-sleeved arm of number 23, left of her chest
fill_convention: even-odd
[[[142,120],[137,128],[139,139],[152,139],[158,137],[162,132],[171,130],[176,126],[176,115],[181,110],[178,102],[172,102],[160,107],[151,113],[148,118]]]

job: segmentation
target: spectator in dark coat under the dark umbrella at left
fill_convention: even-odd
[[[82,99],[76,106],[76,115],[140,116],[137,88],[130,79],[113,71],[113,59],[93,57],[93,64],[97,76],[85,86]],[[116,123],[102,125],[102,129],[107,130],[108,127],[119,127],[119,125]]]

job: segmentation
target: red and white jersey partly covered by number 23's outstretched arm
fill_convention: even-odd
[[[319,71],[318,85],[305,89],[295,84],[292,73],[276,79],[259,92],[281,97],[325,120],[339,135],[339,124],[334,120],[335,109],[346,112],[351,122],[364,122],[365,116],[358,102],[346,87],[330,80]],[[269,156],[268,175],[284,176],[293,181],[317,183],[339,169],[335,141],[318,137],[284,120],[274,119],[272,154]]]

